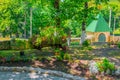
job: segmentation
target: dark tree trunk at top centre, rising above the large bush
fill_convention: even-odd
[[[55,16],[55,25],[57,27],[60,27],[60,0],[54,0],[54,8],[56,10],[56,16]]]

